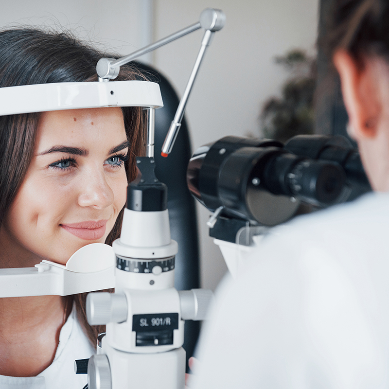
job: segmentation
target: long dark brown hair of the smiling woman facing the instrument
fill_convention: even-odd
[[[96,64],[101,53],[77,40],[69,32],[49,32],[35,28],[15,28],[0,31],[0,88],[18,85],[57,82],[97,81]],[[144,79],[130,65],[122,66],[118,81]],[[115,80],[115,81],[116,81]],[[135,157],[143,153],[143,110],[122,108],[127,138],[131,144],[126,162],[128,181],[136,175]],[[18,193],[31,163],[39,113],[0,116],[0,226]],[[6,163],[5,163],[6,162]],[[106,244],[119,237],[123,210],[109,233]],[[96,343],[103,327],[91,327],[86,319],[87,293],[67,299],[75,302],[78,318],[92,342]]]

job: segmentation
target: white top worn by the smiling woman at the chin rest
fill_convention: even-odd
[[[83,389],[87,374],[74,372],[76,359],[95,354],[77,319],[73,306],[71,314],[59,334],[59,344],[53,363],[36,377],[7,377],[0,375],[1,389]]]

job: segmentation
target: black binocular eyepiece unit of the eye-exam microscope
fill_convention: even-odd
[[[347,141],[347,140],[346,140]],[[300,202],[346,201],[350,187],[370,190],[358,153],[331,137],[225,137],[200,147],[189,162],[188,187],[210,211],[267,226],[291,217]]]

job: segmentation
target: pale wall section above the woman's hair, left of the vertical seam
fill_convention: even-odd
[[[80,38],[126,54],[145,44],[143,26],[149,23],[144,23],[143,19],[145,4],[148,2],[150,1],[2,0],[0,28],[26,24],[70,28]]]

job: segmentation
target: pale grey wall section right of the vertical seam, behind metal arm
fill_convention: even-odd
[[[274,55],[291,48],[314,52],[318,0],[155,0],[155,38],[195,23],[204,8],[227,16],[215,34],[187,106],[194,148],[226,135],[260,135],[260,107],[280,93],[287,73]],[[154,63],[182,93],[202,31],[160,48]],[[203,287],[214,288],[226,266],[205,226],[209,212],[199,207]]]

